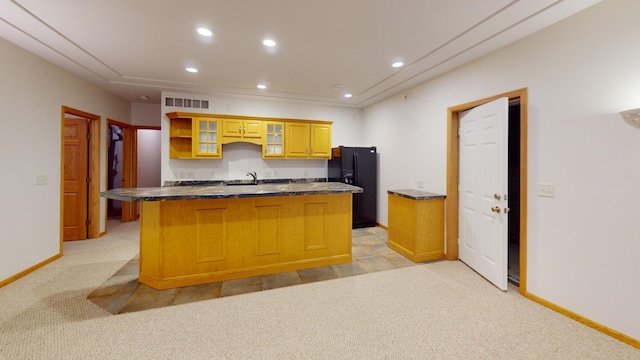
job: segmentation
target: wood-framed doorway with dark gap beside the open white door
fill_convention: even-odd
[[[458,259],[458,211],[459,211],[459,113],[472,109],[474,107],[489,103],[501,97],[509,99],[510,121],[509,128],[513,129],[509,135],[509,158],[514,158],[514,166],[509,171],[509,203],[511,212],[515,212],[513,217],[509,216],[509,243],[517,243],[517,247],[513,246],[510,250],[517,251],[519,265],[517,265],[517,273],[519,275],[520,293],[526,293],[526,197],[527,197],[527,89],[519,89],[508,93],[499,94],[489,98],[477,100],[474,102],[457,105],[448,109],[447,117],[447,198],[446,198],[446,259]],[[511,106],[513,104],[513,107]],[[511,113],[518,111],[519,116],[514,116],[511,120]],[[519,120],[519,121],[518,121]],[[512,126],[511,121],[514,121]],[[517,126],[515,124],[517,122]],[[516,137],[517,139],[514,139]],[[517,147],[517,152],[514,151]],[[516,160],[517,159],[517,160]],[[512,183],[517,186],[512,186]],[[510,213],[511,214],[511,213]],[[514,218],[517,217],[517,221]],[[513,239],[511,237],[513,236]],[[514,272],[515,273],[515,272]],[[515,281],[512,279],[512,281]]]

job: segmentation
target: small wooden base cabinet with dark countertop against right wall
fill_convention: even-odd
[[[413,262],[444,258],[444,195],[389,190],[390,249]]]

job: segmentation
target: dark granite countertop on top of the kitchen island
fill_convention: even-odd
[[[102,197],[122,201],[165,201],[228,199],[259,196],[361,193],[362,188],[339,182],[284,183],[258,185],[164,186],[111,189]]]

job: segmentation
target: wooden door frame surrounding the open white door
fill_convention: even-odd
[[[527,292],[527,113],[528,89],[522,88],[447,109],[447,260],[458,259],[458,189],[460,183],[460,112],[507,97],[520,100],[520,294]]]

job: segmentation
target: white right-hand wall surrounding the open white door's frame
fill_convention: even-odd
[[[447,107],[529,89],[527,290],[640,339],[640,2],[608,0],[364,111],[386,190],[446,191]],[[400,160],[399,160],[400,159]],[[538,197],[537,183],[555,185]]]

